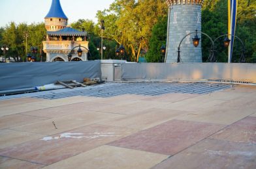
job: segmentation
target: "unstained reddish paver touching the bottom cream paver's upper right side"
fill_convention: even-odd
[[[174,155],[182,151],[182,149],[216,133],[223,127],[225,125],[170,120],[134,135],[116,140],[109,145]]]

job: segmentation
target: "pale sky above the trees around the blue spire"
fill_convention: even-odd
[[[94,22],[97,10],[108,8],[114,0],[60,0],[69,24],[78,19],[91,19]],[[0,0],[0,27],[10,21],[15,23],[38,23],[44,21],[52,0]]]

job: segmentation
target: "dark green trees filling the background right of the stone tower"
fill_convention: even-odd
[[[254,62],[252,59],[256,48],[256,1],[239,0],[236,33],[246,46],[246,62]],[[221,34],[227,34],[228,7],[225,0],[206,0],[202,6],[202,32],[206,32],[213,39]],[[224,37],[223,37],[224,38]],[[227,48],[223,47],[223,38],[216,42],[216,56],[218,62],[227,62]],[[206,61],[210,49],[210,41],[202,36],[202,59]],[[238,62],[242,50],[242,44],[238,39],[234,40],[232,62]]]

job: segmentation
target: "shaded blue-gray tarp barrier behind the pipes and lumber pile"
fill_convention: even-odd
[[[0,64],[0,91],[42,86],[56,81],[101,77],[101,61]]]

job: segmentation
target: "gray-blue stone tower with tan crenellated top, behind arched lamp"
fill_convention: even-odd
[[[178,45],[186,34],[201,31],[201,6],[204,0],[167,0],[168,30],[166,62],[177,62]],[[199,38],[201,34],[198,33]],[[182,62],[202,62],[201,43],[193,46],[192,38],[187,36],[180,45]]]

